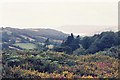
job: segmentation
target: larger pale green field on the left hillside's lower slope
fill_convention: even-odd
[[[19,46],[23,49],[34,49],[34,48],[36,48],[36,45],[32,44],[32,43],[16,43],[14,45]]]

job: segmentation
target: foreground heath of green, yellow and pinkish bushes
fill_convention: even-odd
[[[83,56],[53,51],[6,50],[3,77],[118,78],[118,58],[103,54]]]

